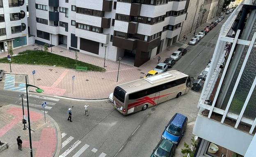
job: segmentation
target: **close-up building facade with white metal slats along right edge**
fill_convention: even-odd
[[[195,157],[256,156],[256,2],[223,24],[201,93]]]

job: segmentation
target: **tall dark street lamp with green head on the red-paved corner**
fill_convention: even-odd
[[[37,88],[36,92],[37,93],[43,93],[43,89],[37,87],[37,86],[33,86],[31,84],[27,84],[27,76],[25,76],[26,78],[26,92],[27,92],[27,87],[32,86]],[[30,129],[30,115],[29,115],[29,106],[28,106],[28,94],[27,94],[27,121],[28,121],[28,133],[29,133],[29,137],[30,137],[30,157],[33,157],[33,152],[32,152],[32,140],[31,140],[31,129]]]

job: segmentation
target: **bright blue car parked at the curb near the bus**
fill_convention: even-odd
[[[162,139],[168,139],[178,145],[187,128],[187,117],[180,113],[175,113],[162,133]]]

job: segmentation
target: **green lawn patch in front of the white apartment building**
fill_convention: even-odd
[[[21,55],[16,55],[11,57],[11,63],[15,64],[30,64],[30,65],[46,65],[46,66],[54,66],[56,67],[63,67],[63,68],[69,68],[69,69],[75,69],[75,60],[64,57],[61,55],[56,55],[53,53],[45,53],[43,51],[32,51],[27,50],[21,53],[18,53]],[[75,56],[75,53],[74,53]],[[79,59],[79,58],[78,58]],[[7,57],[0,58],[1,63],[9,63],[7,60]],[[88,71],[105,71],[104,68],[101,68],[99,66],[95,66],[92,64],[88,64],[85,62],[77,61],[77,66],[87,66]]]

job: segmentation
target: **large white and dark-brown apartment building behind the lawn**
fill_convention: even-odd
[[[38,44],[140,66],[178,40],[189,2],[29,0],[28,23]]]

